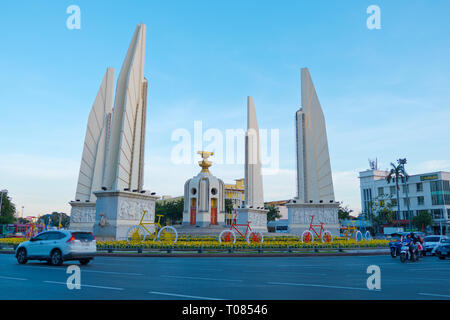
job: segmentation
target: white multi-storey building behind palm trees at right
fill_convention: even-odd
[[[361,189],[361,209],[368,213],[371,203],[383,198],[391,199],[392,210],[397,217],[397,191],[395,182],[387,182],[388,171],[366,170],[359,173]],[[433,232],[446,234],[450,231],[450,172],[430,172],[410,175],[406,183],[399,183],[400,214],[399,219],[406,224],[408,202],[411,219],[420,212],[429,212],[433,216]],[[406,192],[407,191],[407,192]],[[408,202],[407,196],[408,195]],[[409,220],[408,220],[409,221]]]

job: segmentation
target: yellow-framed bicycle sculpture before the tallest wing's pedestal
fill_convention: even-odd
[[[160,221],[163,215],[156,215],[158,217],[157,222],[144,222],[144,217],[146,214],[147,210],[143,210],[143,214],[141,217],[141,221],[139,221],[139,224],[128,229],[127,241],[158,240],[171,243],[177,242],[178,232],[174,227],[161,227]],[[154,231],[152,232],[151,230]]]

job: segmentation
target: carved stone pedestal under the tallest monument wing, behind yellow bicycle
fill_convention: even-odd
[[[156,196],[129,191],[97,191],[94,234],[98,240],[126,240],[128,229],[144,222],[155,221]]]

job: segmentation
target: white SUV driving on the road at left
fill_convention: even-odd
[[[92,232],[57,230],[41,232],[16,248],[17,262],[48,261],[61,265],[67,260],[88,264],[97,253],[96,238]]]

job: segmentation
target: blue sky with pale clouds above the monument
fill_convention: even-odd
[[[66,28],[69,5],[81,29]],[[366,27],[369,5],[381,30]],[[171,164],[178,128],[279,129],[265,200],[295,194],[294,114],[308,67],[327,123],[336,199],[360,210],[358,172],[400,157],[411,174],[450,171],[448,1],[8,1],[0,10],[0,189],[25,215],[69,212],[87,117],[147,25],[145,187],[181,195],[196,164]],[[213,165],[225,182],[241,165]]]

